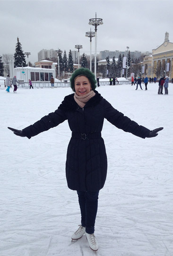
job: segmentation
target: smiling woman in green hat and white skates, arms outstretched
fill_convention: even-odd
[[[30,139],[68,119],[72,136],[67,150],[66,178],[69,189],[78,193],[81,211],[81,225],[71,238],[79,239],[86,233],[90,248],[96,251],[98,242],[94,231],[98,194],[104,187],[107,173],[107,157],[101,137],[104,118],[141,138],[156,137],[163,128],[150,131],[115,110],[95,91],[95,75],[89,69],[77,69],[70,83],[75,93],[66,96],[55,112],[23,130],[9,129],[17,136]]]

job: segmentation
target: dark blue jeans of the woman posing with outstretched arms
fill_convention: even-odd
[[[81,225],[86,227],[86,233],[93,234],[95,231],[99,191],[77,191],[77,193],[81,212]]]

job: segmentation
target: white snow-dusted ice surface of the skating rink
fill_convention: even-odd
[[[140,125],[164,130],[142,139],[105,120],[108,174],[99,194],[96,253],[85,235],[71,242],[80,211],[65,178],[68,122],[30,140],[7,129],[56,110],[71,89],[0,89],[0,256],[173,256],[173,84],[168,96],[157,94],[158,83],[135,88],[97,90]]]

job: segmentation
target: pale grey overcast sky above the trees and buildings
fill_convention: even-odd
[[[98,26],[97,53],[103,50],[151,51],[173,42],[172,0],[0,0],[0,55],[15,53],[17,37],[29,60],[42,49],[75,50],[90,54],[90,18],[103,18]],[[94,27],[91,26],[92,31]],[[92,41],[92,52],[95,40]]]

